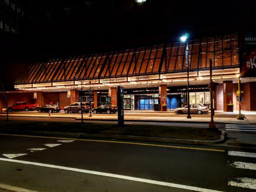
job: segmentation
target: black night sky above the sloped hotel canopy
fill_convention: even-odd
[[[10,66],[256,29],[245,1],[24,0],[20,34],[0,34],[2,79]],[[251,10],[248,9],[251,7]],[[15,65],[16,63],[16,65]],[[16,68],[16,67],[15,67]],[[11,68],[14,72],[15,70]],[[7,77],[6,77],[7,76]]]

